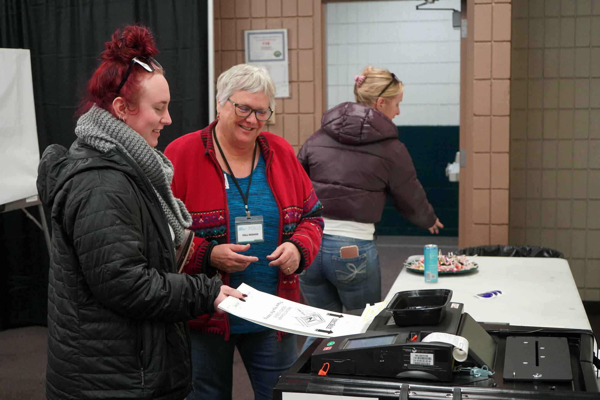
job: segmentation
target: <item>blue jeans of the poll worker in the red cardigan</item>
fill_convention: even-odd
[[[192,381],[188,400],[230,400],[233,384],[233,350],[238,351],[254,390],[254,399],[271,399],[277,378],[298,358],[296,335],[277,341],[276,331],[221,335],[190,330]]]

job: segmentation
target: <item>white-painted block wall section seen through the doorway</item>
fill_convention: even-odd
[[[422,11],[422,1],[326,4],[327,108],[354,101],[353,77],[388,68],[405,85],[396,125],[459,125],[460,28],[452,11]],[[455,8],[439,0],[429,8]]]

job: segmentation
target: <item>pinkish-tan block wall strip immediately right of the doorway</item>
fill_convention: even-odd
[[[508,243],[511,1],[463,1],[460,246]],[[463,10],[464,13],[464,10]],[[464,14],[463,14],[464,18]]]

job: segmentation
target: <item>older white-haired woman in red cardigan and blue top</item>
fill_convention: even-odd
[[[292,146],[262,132],[274,97],[266,68],[230,68],[217,80],[217,119],[164,154],[175,168],[173,194],[190,211],[196,235],[184,271],[298,301],[298,273],[319,252],[323,207]],[[271,398],[278,375],[297,357],[295,335],[234,315],[203,315],[189,326],[194,398],[231,398],[235,347],[256,399]]]

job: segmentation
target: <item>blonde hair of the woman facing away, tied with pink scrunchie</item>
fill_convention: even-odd
[[[364,104],[365,106],[373,106],[377,98],[394,98],[404,91],[404,85],[400,80],[392,78],[392,74],[383,68],[373,68],[370,65],[362,70],[361,75],[365,77],[360,88],[354,85],[354,98],[356,103]],[[394,80],[391,85],[382,93],[386,86]]]

